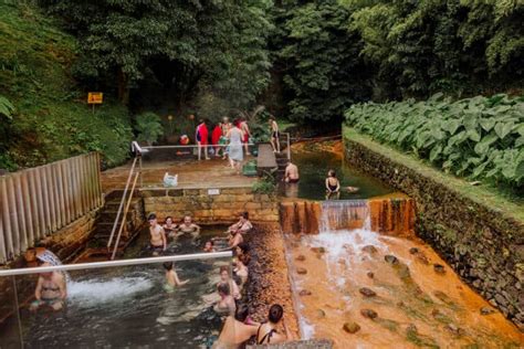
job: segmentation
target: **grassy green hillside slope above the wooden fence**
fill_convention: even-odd
[[[125,161],[127,109],[106,98],[92,113],[71,80],[75,41],[30,2],[0,3],[0,94],[15,107],[0,123],[0,168],[15,170],[102,152],[104,167]]]

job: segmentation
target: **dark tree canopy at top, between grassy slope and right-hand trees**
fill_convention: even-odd
[[[177,107],[200,94],[247,106],[269,82],[269,0],[42,3],[78,39],[76,76],[118,85],[124,103],[159,86]]]

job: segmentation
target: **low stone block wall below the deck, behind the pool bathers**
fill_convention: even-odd
[[[254,223],[279,222],[276,198],[253,193],[251,188],[153,189],[143,190],[146,214],[155,212],[159,220],[171,215],[175,221],[191,215],[202,224],[230,223],[248,211]]]

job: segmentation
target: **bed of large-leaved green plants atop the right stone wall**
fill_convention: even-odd
[[[447,172],[513,188],[524,184],[524,98],[499,94],[458,102],[358,104],[348,125],[412,151]]]

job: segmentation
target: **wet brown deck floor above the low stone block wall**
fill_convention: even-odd
[[[250,159],[252,158],[248,158]],[[129,169],[130,162],[102,172],[103,192],[124,189]],[[143,161],[143,188],[164,188],[163,179],[166,172],[178,174],[176,188],[180,189],[251,187],[256,181],[256,178],[237,174],[229,162],[222,159]],[[138,182],[137,186],[139,184]]]

